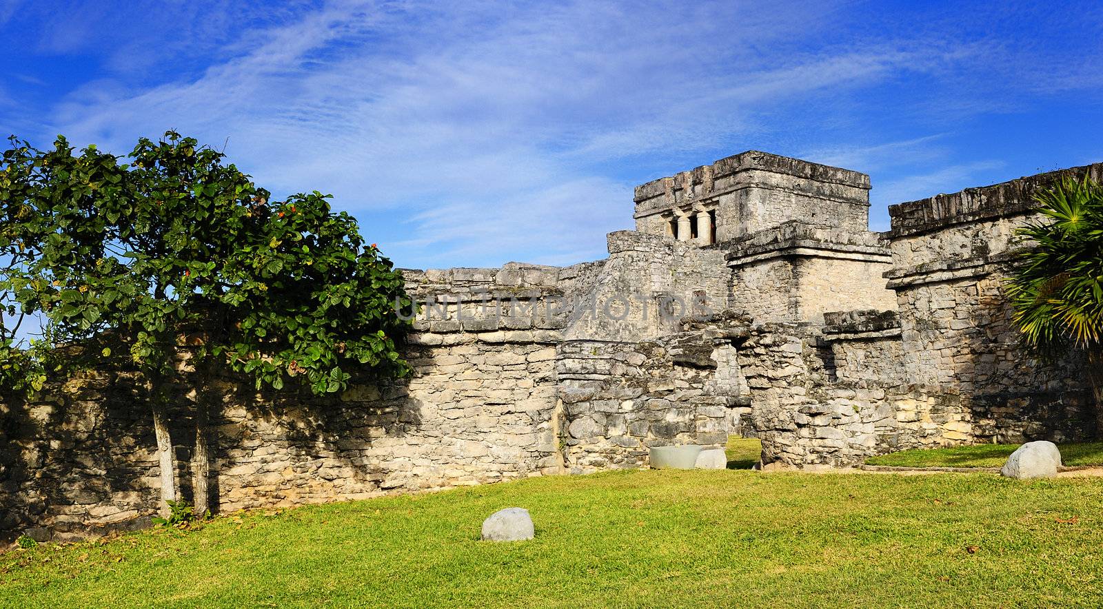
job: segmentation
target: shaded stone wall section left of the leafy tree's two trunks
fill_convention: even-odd
[[[127,374],[82,374],[30,399],[3,397],[0,536],[149,525],[156,446],[146,391]]]

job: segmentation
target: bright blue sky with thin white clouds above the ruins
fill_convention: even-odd
[[[1103,160],[1100,2],[0,0],[0,131],[174,128],[399,266],[570,264],[748,149],[890,203]]]

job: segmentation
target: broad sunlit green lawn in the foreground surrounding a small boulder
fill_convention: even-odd
[[[514,505],[535,539],[478,539]],[[1086,478],[622,471],[0,555],[19,608],[1100,605]]]

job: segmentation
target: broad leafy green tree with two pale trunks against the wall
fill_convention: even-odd
[[[13,141],[6,153],[0,234],[20,235],[6,237],[8,249],[29,254],[9,265],[0,288],[19,312],[45,318],[36,346],[79,345],[26,351],[35,365],[13,376],[41,375],[54,360],[136,367],[150,388],[165,502],[179,499],[173,396],[194,395],[202,514],[218,374],[234,371],[257,389],[293,381],[315,394],[343,389],[351,371],[405,375],[396,341],[408,322],[394,309],[410,303],[401,275],[326,195],[271,203],[221,152],[172,131],[139,140],[129,159],[120,164],[95,147],[74,154],[64,138],[47,151]]]

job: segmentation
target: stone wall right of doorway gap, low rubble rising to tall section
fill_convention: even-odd
[[[1084,354],[1031,357],[1005,291],[1016,252],[1029,247],[1015,229],[1037,220],[1032,194],[1084,173],[1100,179],[1103,164],[890,206],[893,310],[827,312],[823,325],[783,332],[788,351],[747,359],[753,333],[740,351],[757,366],[743,374],[763,460],[838,466],[904,448],[1093,437]]]

